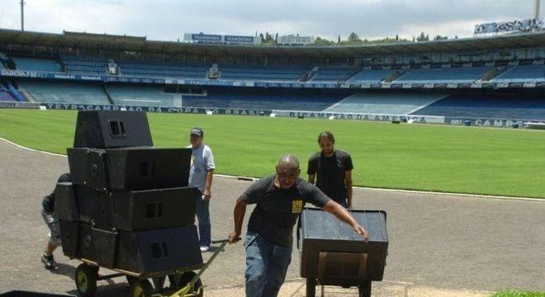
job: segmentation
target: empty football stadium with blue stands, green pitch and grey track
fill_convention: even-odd
[[[373,296],[544,296],[539,9],[532,20],[476,25],[474,37],[358,45],[0,28],[0,251],[8,257],[0,295],[81,294],[78,260],[56,256],[53,273],[35,261],[46,227],[29,207],[69,170],[78,111],[145,112],[157,148],[185,147],[189,130],[203,127],[218,165],[217,238],[232,230],[235,200],[251,181],[274,173],[284,153],[300,158],[306,179],[316,136],[332,131],[354,160],[355,208],[388,213],[392,241]],[[244,296],[244,249],[218,253],[201,276],[204,295]],[[299,257],[294,249],[279,296],[305,296]],[[100,279],[96,296],[129,290]]]

